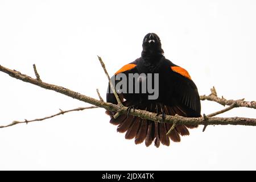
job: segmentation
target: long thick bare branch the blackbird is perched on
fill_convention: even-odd
[[[9,76],[14,77],[18,80],[22,80],[24,82],[29,82],[31,84],[40,86],[44,89],[54,90],[55,92],[59,92],[64,94],[65,96],[75,98],[76,100],[80,100],[83,102],[87,102],[89,104],[105,108],[106,110],[119,112],[120,114],[127,113],[127,107],[123,105],[115,105],[108,102],[102,102],[100,100],[96,100],[94,98],[82,95],[80,93],[74,92],[73,90],[64,88],[62,86],[57,86],[53,84],[48,84],[43,81],[38,81],[30,76],[24,75],[18,71],[11,70],[9,68],[5,68],[0,65],[0,71],[7,73]],[[208,96],[205,96],[208,98]],[[215,96],[217,97],[217,96]],[[206,99],[205,98],[205,99]],[[214,98],[216,99],[216,98]],[[207,99],[208,100],[208,99]],[[235,101],[234,101],[235,102]],[[232,104],[234,103],[232,102]],[[244,106],[241,104],[241,101],[237,103],[238,106]],[[228,104],[226,104],[228,105]],[[231,105],[231,104],[230,104]],[[252,107],[254,108],[254,107]],[[145,110],[130,110],[130,115],[134,115],[137,117],[141,117],[144,119],[149,119],[151,121],[162,122],[162,115],[158,115],[156,113],[151,113]],[[26,122],[26,121],[25,121]],[[232,118],[220,118],[220,117],[210,117],[207,119],[207,122],[203,117],[201,118],[186,118],[180,117],[179,115],[171,116],[166,115],[164,122],[166,123],[176,123],[176,125],[246,125],[246,126],[256,126],[256,119],[254,118],[240,118],[240,117],[232,117]]]

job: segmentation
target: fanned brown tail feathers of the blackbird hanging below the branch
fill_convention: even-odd
[[[126,106],[129,106],[129,104],[126,102],[124,103]],[[138,109],[155,113],[162,113],[162,107],[157,104],[150,104],[148,107],[141,106]],[[163,109],[168,115],[179,114],[184,117],[187,116],[182,107],[179,106],[164,106]],[[120,115],[116,119],[112,117],[110,119],[110,123],[113,125],[118,125],[117,131],[120,133],[127,131],[125,134],[126,139],[133,139],[135,137],[135,144],[142,143],[145,140],[147,147],[150,146],[153,141],[156,147],[159,147],[160,143],[166,146],[170,146],[170,138],[174,142],[180,142],[180,135],[189,135],[187,128],[192,129],[197,127],[192,125],[177,125],[175,129],[172,130],[171,133],[167,136],[166,133],[171,129],[171,123],[158,123],[138,117],[133,117],[131,115],[127,117],[126,114]]]

